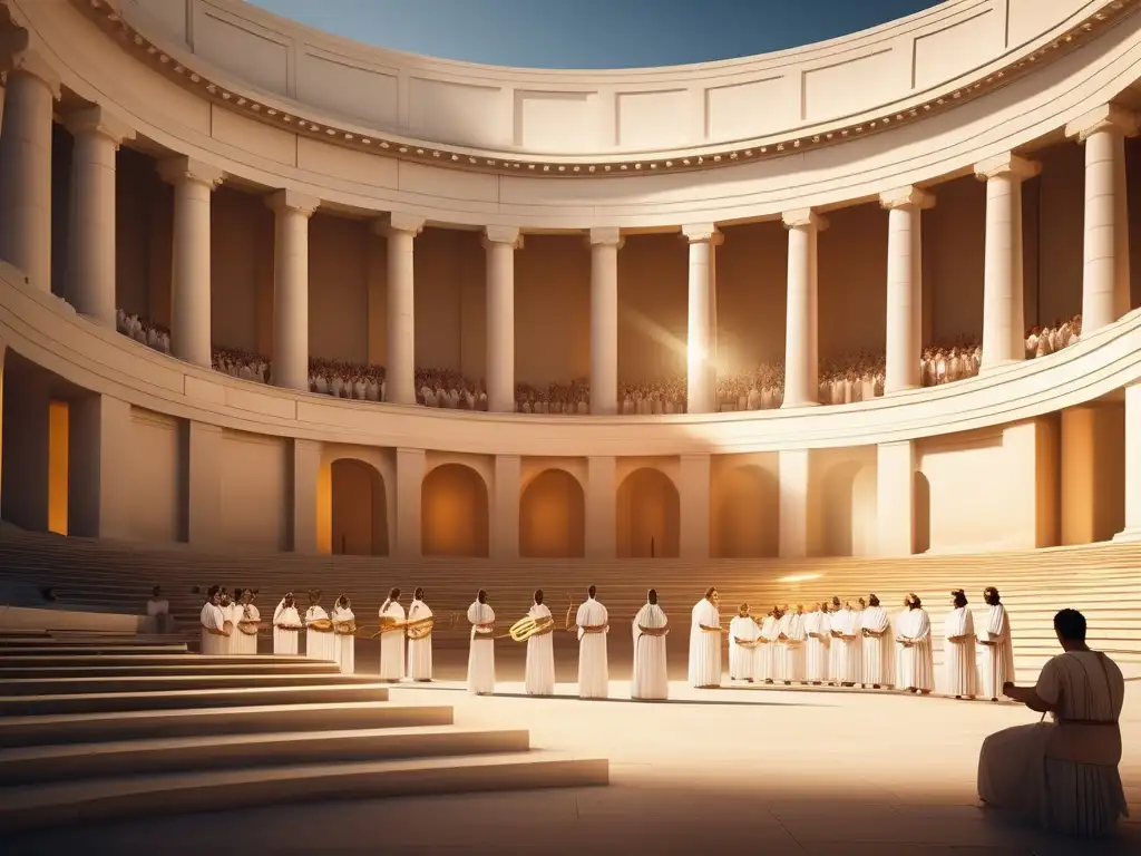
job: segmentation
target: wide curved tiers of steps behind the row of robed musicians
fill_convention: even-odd
[[[159,583],[195,644],[202,592],[211,584],[260,589],[259,605],[268,620],[281,595],[321,588],[326,606],[339,593],[353,599],[358,623],[372,624],[389,588],[404,603],[416,586],[442,621],[432,637],[440,647],[466,647],[464,620],[476,590],[485,588],[504,628],[526,614],[534,589],[559,617],[570,601],[585,598],[590,584],[609,609],[615,627],[630,621],[654,587],[677,632],[667,637],[672,662],[685,657],[689,609],[707,586],[721,592],[722,615],[741,601],[754,611],[774,604],[803,604],[839,596],[856,600],[879,595],[889,611],[908,591],[920,595],[931,614],[936,663],[941,661],[941,620],[949,591],[968,592],[976,615],[985,609],[981,591],[995,586],[1011,615],[1019,679],[1037,675],[1058,653],[1051,620],[1062,607],[1078,608],[1090,621],[1091,643],[1122,664],[1127,676],[1141,675],[1141,544],[1092,544],[1027,552],[914,556],[908,558],[809,558],[689,562],[679,559],[488,559],[399,560],[381,557],[300,556],[294,554],[211,554],[185,547],[67,539],[0,527],[0,567],[6,579],[32,587],[50,586],[58,604],[75,609],[141,612]],[[448,631],[447,616],[458,616]],[[612,632],[612,656],[631,646],[630,633]],[[558,640],[557,647],[567,643]]]

